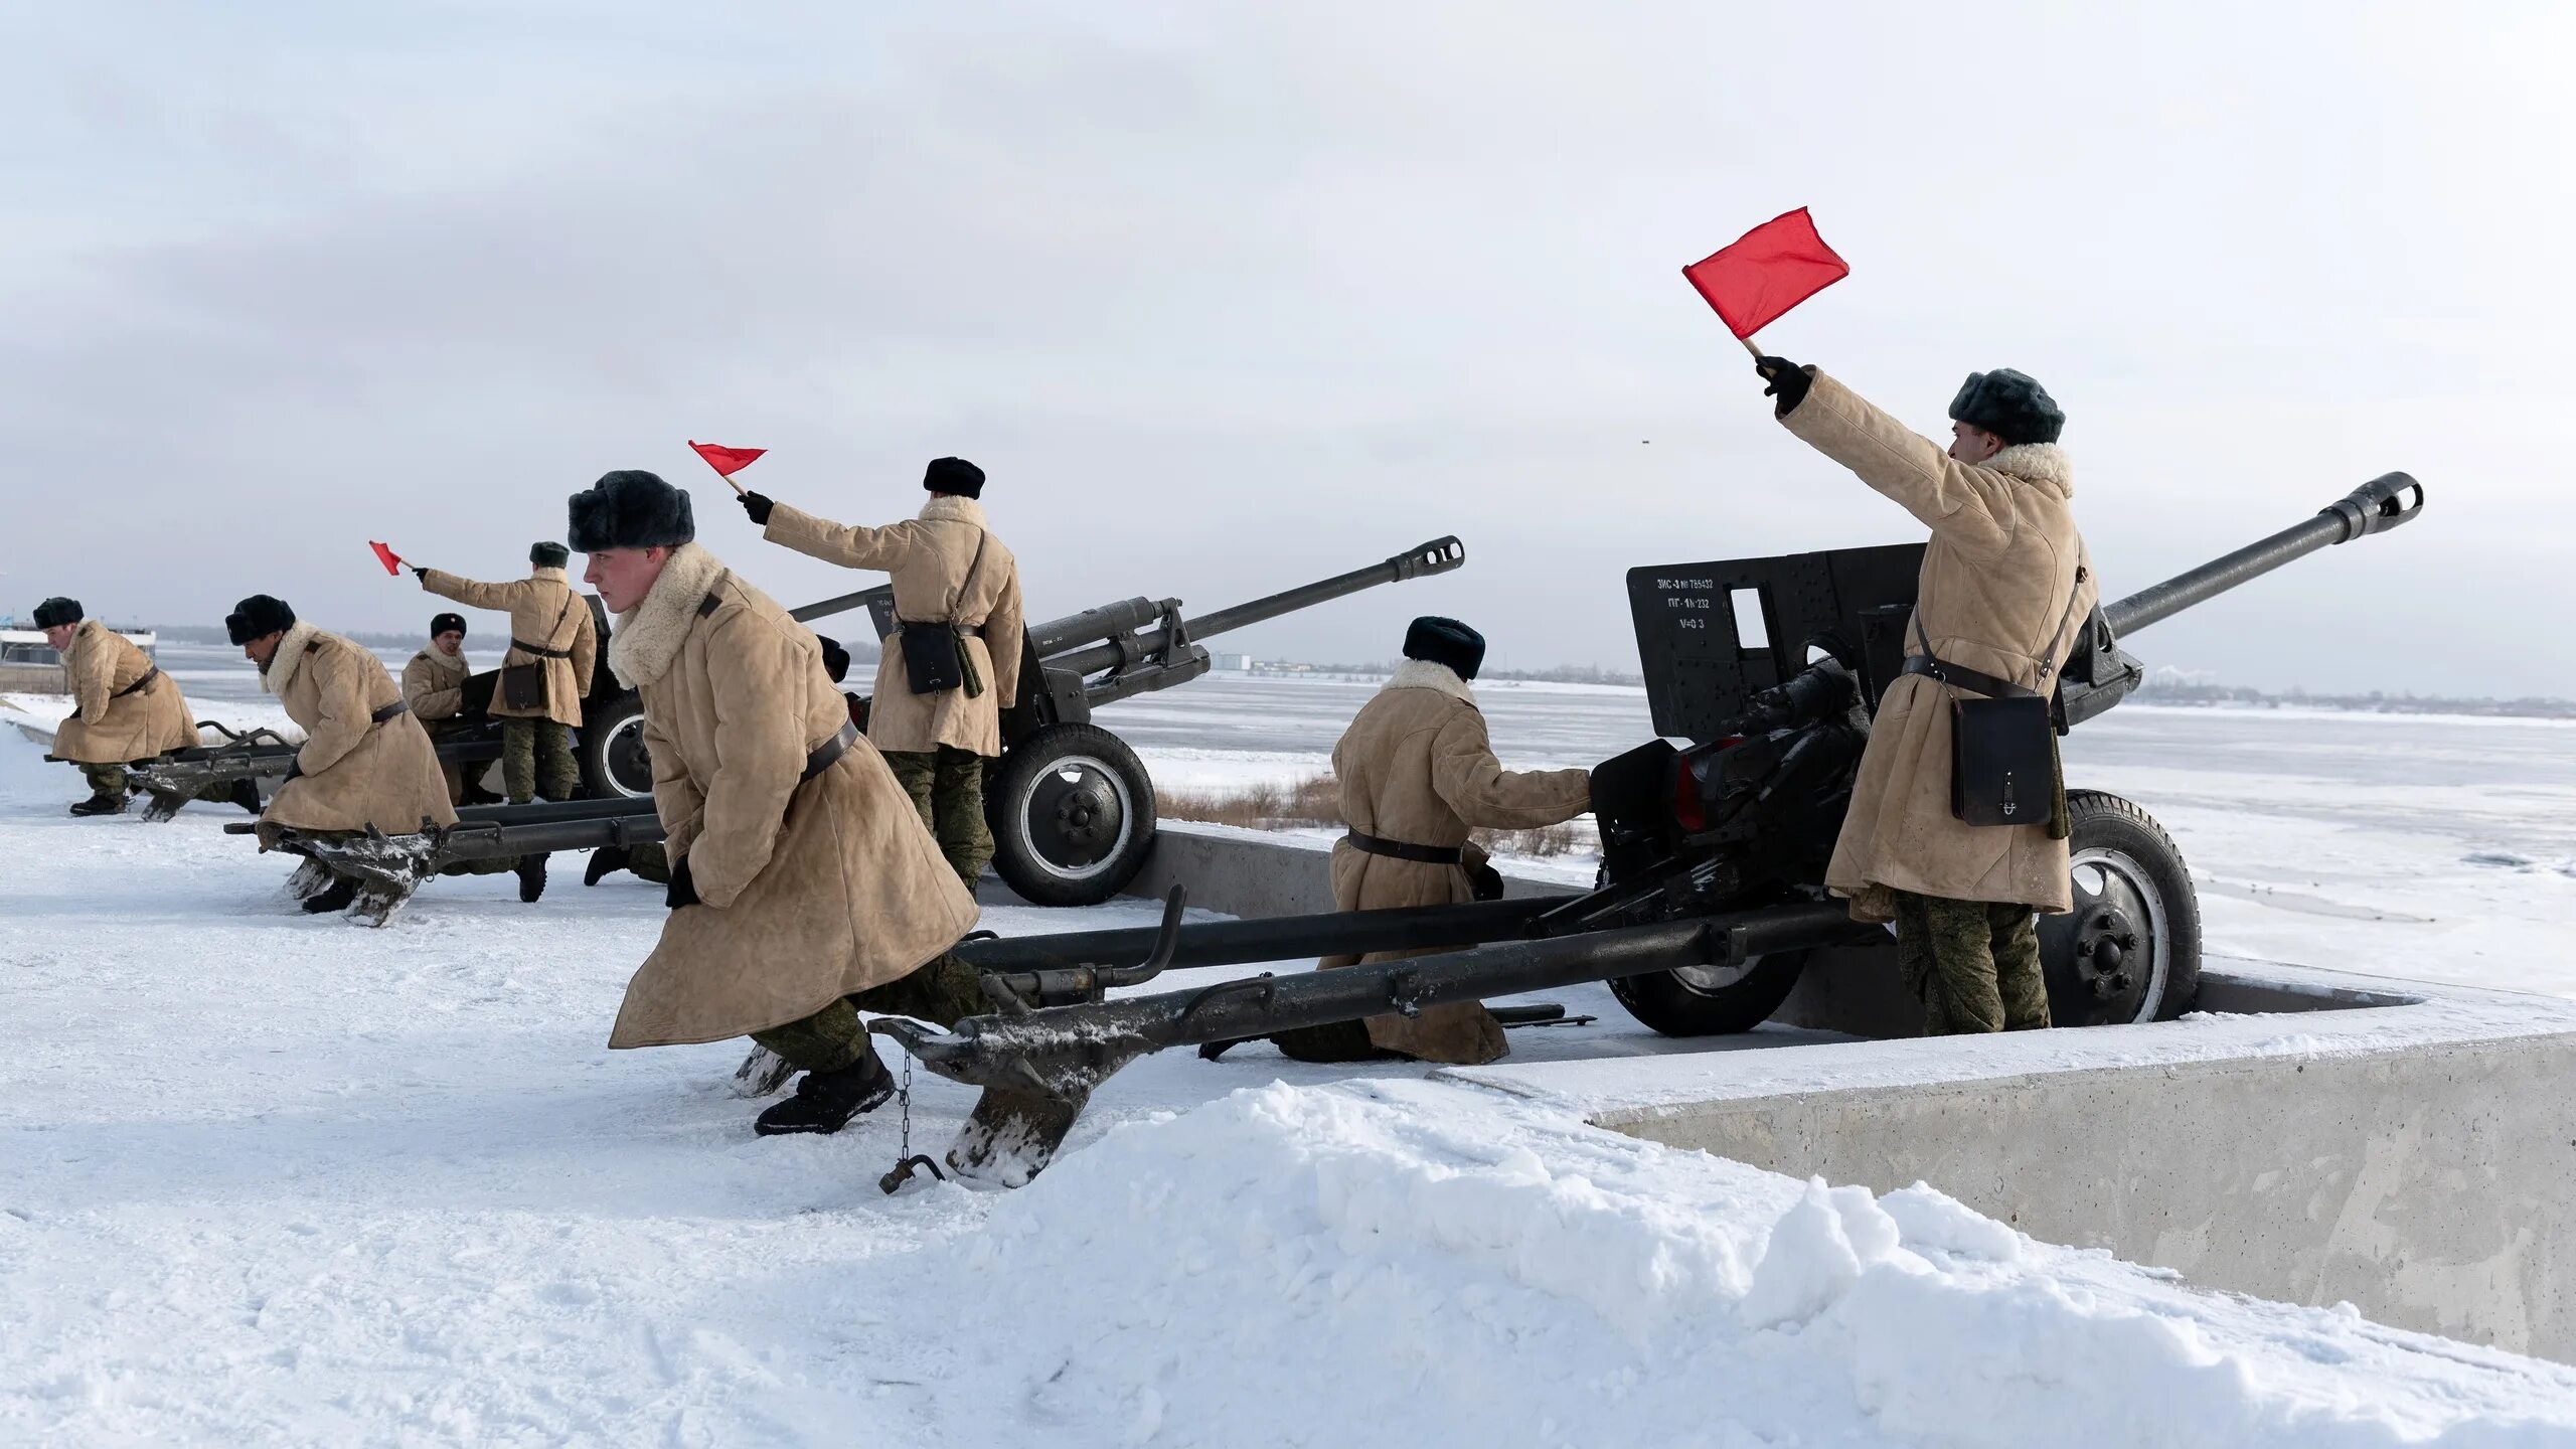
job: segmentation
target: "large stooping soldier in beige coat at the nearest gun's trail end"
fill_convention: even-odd
[[[569,508],[582,580],[618,616],[608,668],[644,701],[670,853],[670,918],[608,1044],[750,1036],[804,1070],[755,1132],[840,1132],[894,1093],[853,993],[979,1011],[948,954],[974,897],[850,727],[814,634],[696,547],[685,492],[611,472]]]

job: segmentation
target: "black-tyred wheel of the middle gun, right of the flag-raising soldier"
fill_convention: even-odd
[[[992,869],[1036,905],[1100,905],[1154,846],[1154,779],[1118,735],[1048,724],[984,781]]]

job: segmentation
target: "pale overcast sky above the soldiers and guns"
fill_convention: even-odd
[[[2136,639],[2228,683],[2576,694],[2568,5],[8,5],[5,608],[435,601],[685,438],[842,521],[963,454],[1030,614],[1633,668],[1623,572],[1917,539],[1770,420],[1680,266],[1814,206],[1772,325],[1922,431],[2066,407],[2128,593],[2409,469],[2419,523]],[[479,629],[497,639],[500,619]]]

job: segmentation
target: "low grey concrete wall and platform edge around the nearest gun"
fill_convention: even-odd
[[[1180,825],[1139,890],[1327,910],[1321,856]],[[2202,1287],[2576,1361],[2571,1000],[2213,954],[2182,1021],[1896,1039],[1917,1016],[1886,951],[1837,951],[1780,1021],[1847,1039],[1440,1075],[1780,1173],[1927,1181]]]

